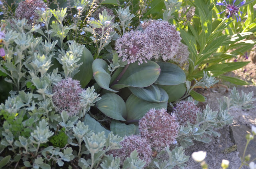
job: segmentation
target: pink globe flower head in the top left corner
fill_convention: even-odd
[[[17,19],[26,18],[28,24],[32,24],[39,18],[37,10],[46,9],[47,5],[42,0],[24,0],[18,3],[18,7],[15,10],[15,16]]]

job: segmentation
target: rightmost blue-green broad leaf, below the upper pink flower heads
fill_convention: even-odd
[[[157,64],[161,68],[161,73],[155,82],[156,84],[172,86],[185,83],[186,75],[180,67],[168,62],[158,62]]]

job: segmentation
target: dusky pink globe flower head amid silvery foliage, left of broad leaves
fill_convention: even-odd
[[[69,116],[78,114],[81,109],[80,93],[82,92],[79,81],[73,80],[70,77],[68,79],[62,79],[62,81],[52,88],[52,92],[54,92],[52,101],[59,113],[65,110]]]

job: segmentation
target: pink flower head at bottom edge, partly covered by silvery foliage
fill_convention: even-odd
[[[124,140],[120,142],[121,149],[115,149],[108,151],[109,154],[113,154],[114,157],[120,157],[120,164],[123,165],[126,157],[130,157],[130,153],[137,150],[140,159],[146,162],[148,166],[151,162],[152,149],[146,138],[140,135],[125,136]]]

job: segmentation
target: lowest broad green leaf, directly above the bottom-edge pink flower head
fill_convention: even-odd
[[[112,120],[110,124],[110,131],[113,132],[114,135],[118,135],[121,137],[130,136],[136,133],[136,126],[134,124],[124,124],[117,120]]]

